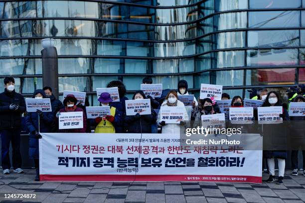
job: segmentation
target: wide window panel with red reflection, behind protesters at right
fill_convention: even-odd
[[[295,84],[295,68],[247,70],[246,85],[291,85]]]

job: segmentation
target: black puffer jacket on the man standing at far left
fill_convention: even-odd
[[[11,103],[18,104],[17,110],[9,110]],[[6,89],[0,94],[0,129],[21,128],[21,114],[26,110],[24,98],[15,91]]]

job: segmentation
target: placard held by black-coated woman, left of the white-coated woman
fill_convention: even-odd
[[[126,100],[125,108],[126,108],[126,115],[136,115],[137,113],[141,115],[152,114],[150,99]]]

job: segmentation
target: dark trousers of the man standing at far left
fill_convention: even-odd
[[[20,129],[0,130],[2,169],[10,169],[9,144],[12,146],[12,165],[14,169],[21,168]]]

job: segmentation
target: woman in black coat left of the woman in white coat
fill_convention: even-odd
[[[143,91],[138,91],[134,94],[133,100],[147,99]],[[152,124],[156,121],[156,113],[151,106],[151,114],[126,115],[124,114],[124,122],[127,124],[129,133],[152,133]]]

